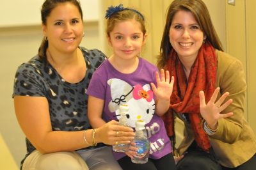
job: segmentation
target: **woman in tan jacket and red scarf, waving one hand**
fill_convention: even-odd
[[[256,137],[243,117],[243,65],[223,52],[202,0],[175,0],[166,16],[157,66],[175,78],[163,115],[173,148],[174,118],[184,121],[177,169],[256,169]]]

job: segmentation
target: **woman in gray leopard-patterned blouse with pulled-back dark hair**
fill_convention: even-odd
[[[42,45],[15,74],[15,113],[28,151],[20,169],[121,169],[105,144],[130,143],[134,132],[117,121],[92,129],[88,121],[86,91],[106,56],[79,47],[79,1],[46,0],[41,14]]]

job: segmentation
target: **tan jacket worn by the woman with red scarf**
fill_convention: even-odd
[[[256,137],[243,116],[246,91],[243,65],[225,52],[219,50],[215,52],[218,58],[216,88],[220,87],[217,100],[221,94],[228,91],[230,95],[225,101],[232,98],[233,102],[221,113],[234,114],[229,118],[218,120],[218,130],[209,135],[209,139],[220,164],[232,168],[243,164],[256,153]],[[175,113],[175,115],[184,121],[181,114]],[[178,148],[179,155],[182,155],[194,140],[191,125],[185,121],[184,124],[184,139]],[[204,123],[202,126],[204,129]]]

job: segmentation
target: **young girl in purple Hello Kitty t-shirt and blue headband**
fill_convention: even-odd
[[[120,4],[108,8],[106,19],[108,43],[114,54],[93,73],[87,91],[90,123],[98,128],[108,121],[119,120],[119,106],[129,105],[127,122],[132,128],[136,120],[146,122],[151,149],[146,164],[131,162],[132,155],[137,154],[132,146],[126,155],[113,152],[122,169],[176,169],[172,146],[160,117],[169,108],[174,79],[170,82],[168,72],[165,78],[163,70],[160,79],[157,67],[139,57],[147,38],[140,12]],[[119,134],[116,132],[116,137]]]

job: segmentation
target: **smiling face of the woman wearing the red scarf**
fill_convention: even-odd
[[[170,43],[179,58],[196,58],[206,36],[191,12],[175,13],[169,32]]]

